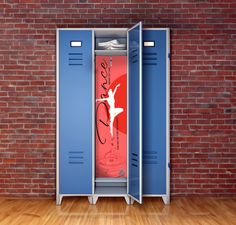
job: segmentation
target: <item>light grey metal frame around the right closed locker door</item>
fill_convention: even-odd
[[[164,203],[169,204],[170,203],[170,29],[169,28],[143,28],[143,30],[166,31],[166,194],[165,195],[146,194],[143,196],[144,197],[162,197]]]

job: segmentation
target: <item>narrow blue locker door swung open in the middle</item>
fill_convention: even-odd
[[[128,30],[128,195],[142,203],[142,23]]]

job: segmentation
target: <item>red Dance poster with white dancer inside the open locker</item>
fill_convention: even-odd
[[[96,57],[96,177],[127,177],[127,58]]]

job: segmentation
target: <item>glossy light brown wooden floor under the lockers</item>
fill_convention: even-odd
[[[236,199],[174,198],[165,206],[159,198],[126,205],[123,198],[64,198],[61,206],[51,199],[0,199],[1,225],[79,224],[202,224],[236,225]]]

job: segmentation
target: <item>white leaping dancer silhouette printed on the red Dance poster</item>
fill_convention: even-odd
[[[108,98],[99,98],[96,99],[96,101],[107,101],[110,108],[109,108],[109,114],[110,114],[110,133],[111,136],[113,137],[113,123],[115,120],[115,117],[118,116],[120,113],[124,111],[123,108],[116,108],[115,107],[115,94],[117,91],[117,88],[120,86],[120,84],[117,84],[115,87],[114,92],[112,92],[112,89],[109,89],[108,91]]]

